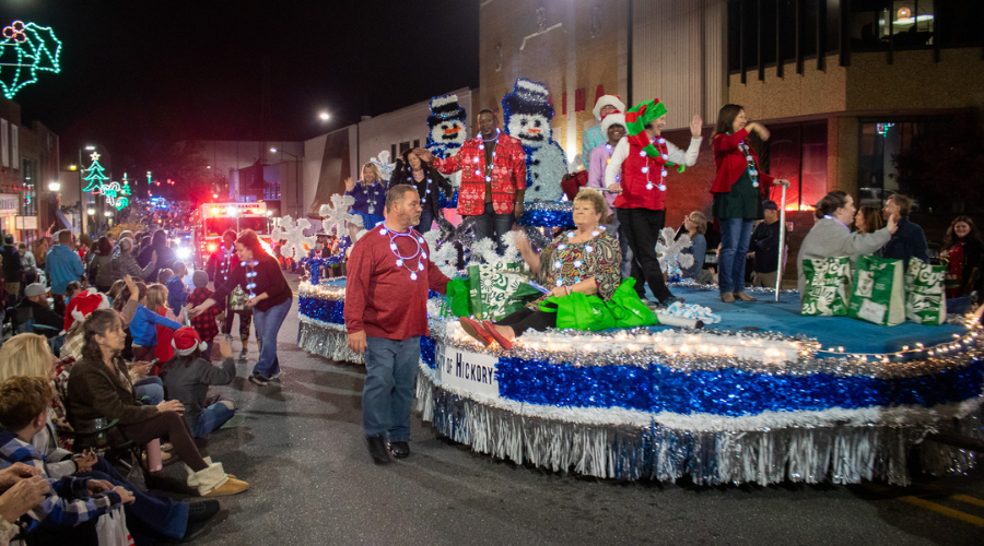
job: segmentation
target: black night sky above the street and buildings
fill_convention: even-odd
[[[50,26],[61,73],[14,97],[62,151],[99,141],[303,140],[478,85],[478,0],[0,0]],[[262,66],[270,115],[261,131]],[[266,134],[262,134],[266,132]],[[122,150],[121,150],[122,149]]]

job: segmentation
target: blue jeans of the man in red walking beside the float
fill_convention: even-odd
[[[362,429],[365,436],[389,436],[410,441],[413,379],[420,364],[420,336],[407,340],[365,340],[365,388],[362,390]]]

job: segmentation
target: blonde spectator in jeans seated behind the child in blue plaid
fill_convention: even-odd
[[[10,347],[10,348],[8,348]],[[47,344],[34,334],[21,334],[12,337],[0,348],[0,383],[11,377],[55,379],[55,357]],[[58,388],[54,391],[56,407],[63,407]],[[210,500],[188,506],[166,497],[151,496],[134,488],[102,456],[90,452],[72,454],[59,448],[58,435],[54,425],[57,412],[48,408],[48,420],[31,439],[31,444],[44,459],[44,471],[48,477],[58,479],[65,476],[90,477],[103,479],[121,486],[133,492],[136,502],[125,507],[128,517],[133,517],[147,524],[154,533],[171,538],[185,538],[190,533],[203,529],[204,521],[219,511],[219,503]],[[131,530],[132,532],[132,530]],[[136,536],[137,544],[151,544],[160,536]]]

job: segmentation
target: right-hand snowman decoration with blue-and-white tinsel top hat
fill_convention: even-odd
[[[553,106],[547,86],[525,78],[502,99],[506,134],[519,139],[526,152],[527,202],[560,201],[561,179],[567,174],[563,149],[553,140]]]

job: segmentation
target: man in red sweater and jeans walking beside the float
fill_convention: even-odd
[[[386,192],[386,222],[352,247],[345,284],[349,347],[365,354],[362,428],[376,464],[410,454],[413,378],[420,336],[427,335],[429,289],[444,294],[448,278],[429,259],[412,186]],[[389,438],[389,449],[386,440]]]

